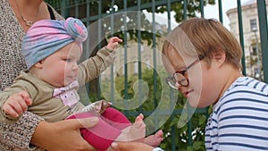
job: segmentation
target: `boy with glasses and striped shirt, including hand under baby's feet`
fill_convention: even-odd
[[[193,107],[214,105],[205,128],[206,150],[268,150],[268,85],[241,74],[241,57],[237,39],[212,19],[182,22],[163,44],[171,88]],[[154,149],[140,143],[112,147]]]

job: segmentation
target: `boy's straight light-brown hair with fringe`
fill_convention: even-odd
[[[194,18],[182,22],[172,30],[163,43],[163,55],[170,58],[169,50],[175,49],[183,55],[205,55],[209,65],[216,51],[224,51],[226,63],[242,70],[242,49],[237,39],[222,23],[214,19]]]

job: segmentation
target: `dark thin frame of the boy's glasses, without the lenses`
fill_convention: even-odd
[[[193,62],[193,63],[190,63],[187,67],[185,67],[182,71],[175,71],[171,76],[169,76],[168,78],[166,78],[165,79],[165,82],[171,87],[171,88],[173,88],[173,89],[177,89],[178,90],[178,88],[177,87],[175,87],[175,86],[173,86],[172,85],[172,83],[171,83],[171,81],[173,81],[174,83],[179,83],[180,84],[180,86],[183,86],[183,87],[187,87],[188,86],[188,78],[187,77],[185,77],[185,73],[186,73],[186,71],[188,71],[189,70],[189,68],[191,68],[193,65],[195,65],[196,63],[198,63],[198,62],[200,62],[201,60],[203,60],[205,58],[205,55],[199,55],[199,57]],[[175,74],[176,73],[180,73],[183,77],[184,77],[184,79],[181,79],[181,80],[176,80],[176,78],[175,78]],[[183,84],[183,82],[182,81],[184,81],[184,80],[187,80],[187,84]]]

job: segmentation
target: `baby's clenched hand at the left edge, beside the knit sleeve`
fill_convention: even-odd
[[[21,91],[20,93],[13,94],[13,96],[9,96],[2,106],[2,109],[4,113],[18,117],[27,110],[31,103],[32,101],[29,98],[29,94],[26,91]]]

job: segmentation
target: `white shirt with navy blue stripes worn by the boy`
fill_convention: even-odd
[[[240,77],[214,105],[206,150],[268,150],[268,85]]]

